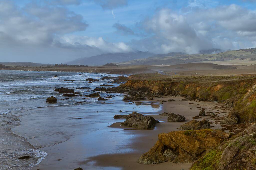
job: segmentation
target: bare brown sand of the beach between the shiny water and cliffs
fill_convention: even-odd
[[[168,101],[168,99],[175,99],[175,101],[172,102],[164,102],[162,110],[157,112],[163,113],[163,112],[172,112],[176,114],[181,114],[186,117],[185,122],[167,122],[167,116],[159,116],[159,115],[151,115],[156,120],[159,121],[159,123],[156,124],[156,127],[153,130],[136,130],[134,128],[126,128],[121,127],[121,122],[114,123],[110,127],[112,128],[122,128],[124,130],[127,130],[129,133],[134,134],[138,136],[137,138],[132,138],[132,143],[130,145],[127,145],[129,148],[133,148],[135,151],[132,153],[123,153],[123,154],[104,154],[99,156],[94,156],[89,159],[89,161],[93,161],[94,165],[97,166],[104,166],[104,167],[120,167],[121,169],[189,169],[189,167],[192,165],[192,163],[186,163],[186,164],[177,164],[172,162],[165,162],[161,164],[152,164],[152,165],[144,165],[144,164],[138,164],[137,160],[140,158],[140,156],[147,152],[151,147],[154,146],[156,141],[158,140],[158,134],[159,133],[168,133],[171,131],[179,130],[177,129],[180,125],[193,120],[192,117],[199,114],[199,109],[206,109],[206,112],[220,112],[223,111],[229,111],[230,108],[227,108],[222,103],[212,103],[212,102],[204,102],[204,101],[197,101],[197,100],[187,100],[187,101],[181,101],[181,99],[184,99],[184,97],[164,97],[164,98],[158,98],[155,100],[148,100],[148,101],[159,101],[160,99],[164,99]],[[193,103],[193,104],[189,104]],[[214,108],[218,106],[218,108]],[[199,108],[200,107],[200,108]],[[145,114],[145,113],[143,113]],[[218,116],[224,116],[226,113],[218,114]],[[150,114],[149,114],[150,115]],[[205,116],[201,119],[207,119],[208,117]],[[201,120],[197,119],[197,120]],[[210,120],[210,119],[209,119]],[[213,120],[210,120],[212,122],[212,129],[220,129],[221,126],[219,124],[214,123]],[[134,129],[134,130],[132,130]],[[85,163],[85,162],[84,162]]]

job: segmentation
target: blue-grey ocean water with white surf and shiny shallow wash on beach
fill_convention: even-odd
[[[152,114],[161,108],[154,102],[124,102],[123,94],[100,92],[103,98],[113,95],[104,104],[97,98],[84,97],[101,84],[111,84],[112,80],[101,80],[103,76],[118,75],[0,70],[0,156],[4,158],[0,160],[0,169],[58,169],[61,165],[75,168],[80,165],[77,160],[132,151],[125,145],[134,136],[108,127],[120,122],[113,115],[120,114],[119,110],[122,114]],[[86,78],[100,81],[88,83]],[[65,99],[62,93],[54,91],[55,87],[72,88],[83,96]],[[55,96],[57,103],[46,103],[50,96]],[[23,155],[31,158],[19,160]]]

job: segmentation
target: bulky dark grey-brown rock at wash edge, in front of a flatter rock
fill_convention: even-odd
[[[152,116],[139,116],[131,117],[121,123],[121,125],[140,129],[150,129],[154,128],[156,123],[158,123],[158,121],[155,120]]]

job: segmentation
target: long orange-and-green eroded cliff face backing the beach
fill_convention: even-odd
[[[145,91],[147,96],[159,95],[186,96],[188,99],[199,101],[224,102],[234,107],[239,113],[240,122],[256,121],[256,93],[250,89],[256,79],[231,81],[172,81],[172,80],[138,80],[142,77],[129,76],[128,81],[119,87],[109,88],[109,91],[124,93],[129,91]],[[136,80],[133,80],[136,79]],[[256,89],[256,87],[255,87]],[[246,98],[244,98],[247,95]]]

